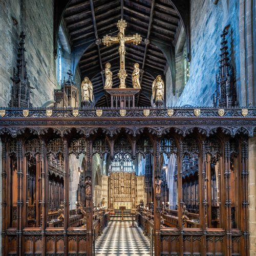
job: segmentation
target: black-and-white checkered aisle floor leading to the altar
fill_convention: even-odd
[[[150,256],[150,241],[131,221],[110,221],[95,243],[96,256]]]

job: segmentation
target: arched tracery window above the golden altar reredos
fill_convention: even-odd
[[[135,164],[129,154],[122,155],[117,153],[114,156],[114,159],[111,161],[109,166],[109,172],[118,173],[118,172],[126,172],[132,173],[135,172]]]

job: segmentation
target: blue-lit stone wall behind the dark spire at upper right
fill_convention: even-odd
[[[190,1],[191,61],[189,80],[177,101],[178,106],[212,106],[219,68],[221,33],[230,25],[228,45],[231,63],[236,73],[238,101],[240,93],[239,1],[229,1],[227,7],[219,1]]]

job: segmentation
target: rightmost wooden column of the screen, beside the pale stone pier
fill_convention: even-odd
[[[242,239],[242,255],[249,255],[249,225],[248,225],[248,142],[246,139],[242,141],[242,216],[241,216],[241,231]]]

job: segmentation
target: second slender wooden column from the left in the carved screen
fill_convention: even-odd
[[[17,140],[17,254],[23,254],[23,141]]]

